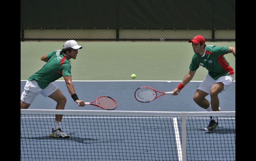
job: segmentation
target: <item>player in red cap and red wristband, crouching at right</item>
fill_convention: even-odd
[[[178,95],[183,87],[188,84],[199,66],[208,70],[206,77],[200,83],[195,91],[193,100],[195,103],[206,109],[207,111],[220,111],[218,94],[225,91],[233,82],[234,71],[225,59],[224,55],[233,53],[235,56],[235,47],[216,46],[205,44],[205,39],[201,35],[196,35],[192,42],[194,55],[189,67],[189,72],[185,75],[182,82],[173,90],[173,95]],[[210,94],[210,102],[205,99]],[[217,117],[210,117],[210,123],[206,127],[208,131],[212,131],[218,125]]]

